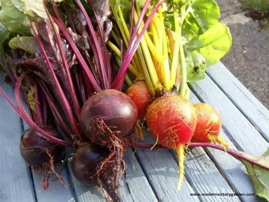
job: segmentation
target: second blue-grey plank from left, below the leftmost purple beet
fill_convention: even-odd
[[[25,130],[29,128],[29,125],[27,125],[24,121],[23,121],[23,128]],[[55,166],[55,171],[59,171],[61,162],[58,162],[54,166]],[[55,180],[55,175],[51,174],[48,180],[49,190],[46,190],[46,191],[42,189],[41,183],[40,183],[44,176],[44,173],[43,172],[39,173],[38,171],[35,171],[33,167],[31,168],[32,168],[31,172],[33,175],[33,183],[35,186],[35,194],[36,194],[37,201],[46,201],[46,202],[76,201],[76,195],[72,187],[72,183],[70,180],[70,175],[68,173],[66,163],[60,174],[63,181],[65,182],[66,187],[61,186],[62,185],[61,182],[58,179]]]

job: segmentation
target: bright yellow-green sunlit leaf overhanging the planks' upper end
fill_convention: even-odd
[[[200,53],[206,59],[207,66],[217,63],[232,46],[229,28],[217,23],[199,37],[184,45],[187,53]]]

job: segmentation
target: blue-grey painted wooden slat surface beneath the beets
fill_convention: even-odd
[[[14,89],[0,85],[14,98]],[[222,63],[208,68],[206,78],[189,85],[191,102],[206,102],[222,118],[223,138],[234,149],[251,155],[263,154],[269,146],[269,111],[227,70]],[[50,180],[40,191],[41,175],[20,156],[20,134],[27,129],[20,117],[0,96],[0,201],[105,201],[99,188],[78,182],[67,161],[61,176],[67,188]],[[146,131],[146,142],[155,140]],[[195,148],[187,154],[185,178],[180,191],[176,154],[170,149],[138,148],[125,154],[126,173],[118,195],[122,201],[264,201],[256,196],[191,196],[192,193],[254,193],[243,164],[214,149]],[[132,168],[132,159],[136,167]]]

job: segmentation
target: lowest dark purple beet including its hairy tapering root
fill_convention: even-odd
[[[80,147],[71,160],[74,176],[83,183],[100,186],[115,202],[120,199],[115,192],[113,169],[115,162],[110,161],[108,148],[91,144]]]

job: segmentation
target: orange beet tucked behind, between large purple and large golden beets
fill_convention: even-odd
[[[146,82],[137,81],[127,89],[126,94],[136,104],[136,107],[138,109],[138,118],[140,120],[144,120],[147,108],[151,104],[151,102],[149,102],[148,100],[152,98],[151,93],[149,92],[146,85]]]

